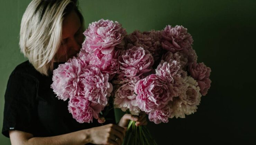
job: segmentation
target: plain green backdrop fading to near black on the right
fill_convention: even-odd
[[[0,2],[0,126],[4,92],[11,71],[26,58],[19,29],[30,0]],[[182,25],[194,39],[198,62],[211,67],[211,88],[198,110],[185,119],[148,124],[159,145],[253,142],[256,136],[255,0],[80,0],[85,27],[99,19],[135,29],[161,30]],[[254,142],[255,143],[255,142]],[[0,144],[10,144],[0,135]]]

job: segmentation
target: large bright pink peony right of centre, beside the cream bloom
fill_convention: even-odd
[[[164,107],[168,101],[172,100],[169,87],[163,78],[152,74],[139,80],[135,85],[135,93],[138,107],[150,113],[157,108]]]

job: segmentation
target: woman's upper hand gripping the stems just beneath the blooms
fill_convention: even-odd
[[[135,125],[147,125],[147,118],[145,112],[140,112],[139,116],[131,115],[131,114],[125,114],[119,121],[118,125],[121,127],[127,127],[129,124],[129,121],[136,121]]]

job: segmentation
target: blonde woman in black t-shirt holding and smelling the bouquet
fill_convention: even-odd
[[[113,111],[103,125],[97,120],[80,124],[58,100],[52,72],[76,56],[83,37],[83,17],[77,0],[32,0],[21,21],[20,49],[28,58],[11,73],[5,94],[2,134],[11,144],[120,145],[129,120],[146,125],[146,115],[125,114],[115,124]],[[113,109],[112,109],[113,110]]]

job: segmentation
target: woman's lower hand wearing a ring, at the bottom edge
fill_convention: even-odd
[[[126,129],[116,124],[107,124],[88,129],[90,143],[97,145],[121,145]],[[117,138],[117,140],[116,140]]]

